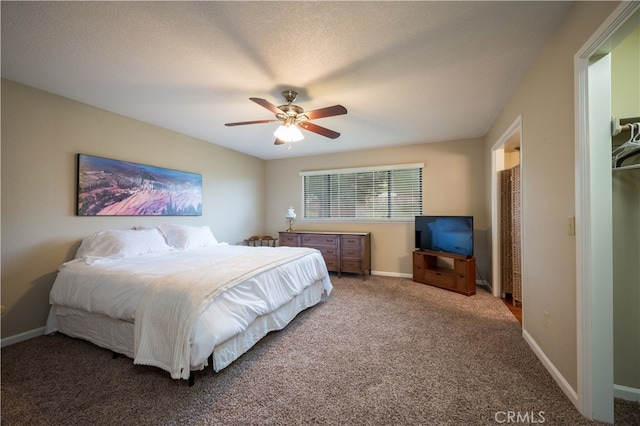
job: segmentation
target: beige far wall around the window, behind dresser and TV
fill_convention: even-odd
[[[475,255],[478,268],[485,276],[487,256],[484,235],[488,219],[483,204],[483,176],[486,173],[481,160],[483,150],[481,140],[464,140],[271,160],[267,163],[266,230],[277,235],[278,231],[286,229],[284,216],[287,207],[293,206],[297,212],[302,211],[302,171],[424,162],[424,214],[474,216]],[[413,222],[298,221],[294,228],[370,231],[374,273],[410,276],[413,272]]]

